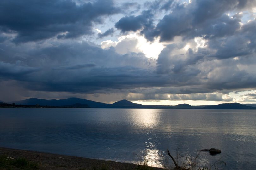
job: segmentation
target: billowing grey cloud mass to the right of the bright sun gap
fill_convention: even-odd
[[[229,38],[224,40],[225,43],[213,43],[210,40],[211,43],[218,46],[214,50],[210,49],[211,45],[209,45],[207,48],[198,48],[197,51],[189,49],[183,54],[177,53],[182,50],[184,45],[179,46],[174,43],[168,45],[162,50],[157,60],[157,73],[168,75],[171,80],[170,84],[191,87],[195,85],[200,87],[201,84],[202,88],[209,90],[208,92],[253,88],[256,78],[254,69],[250,71],[250,69],[241,68],[246,68],[247,65],[255,66],[255,52],[251,53],[247,47],[242,45],[243,43],[248,44],[248,40],[243,42],[232,40],[233,36]],[[234,36],[234,38],[238,37]],[[229,49],[222,50],[226,48],[226,43],[230,44]],[[237,45],[236,47],[237,43],[240,43],[240,46]],[[243,54],[243,51],[246,53]],[[237,55],[239,58],[233,59]],[[243,55],[247,55],[247,58],[240,59]],[[222,59],[222,61],[216,60],[212,56]],[[195,91],[198,89],[188,88],[186,93],[194,93]]]

